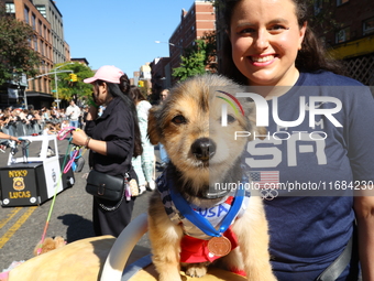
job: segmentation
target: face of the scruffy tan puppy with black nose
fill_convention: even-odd
[[[148,116],[148,137],[153,144],[163,143],[172,163],[185,181],[196,188],[219,182],[240,158],[248,138],[237,131],[252,131],[249,116],[228,105],[224,93],[235,95],[243,88],[218,75],[204,75],[178,84],[167,99]],[[244,102],[243,100],[241,102]],[[222,126],[222,108],[227,126]]]

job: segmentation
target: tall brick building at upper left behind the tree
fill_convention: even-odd
[[[62,14],[52,0],[2,0],[6,2],[7,12],[20,21],[30,24],[34,30],[34,36],[30,41],[30,47],[40,53],[40,74],[50,73],[57,63],[70,60],[68,44],[64,40]],[[30,78],[30,77],[28,77]],[[19,98],[10,96],[1,90],[0,106],[19,106],[18,100],[26,97],[28,104],[36,108],[50,106],[54,98],[52,96],[51,78],[45,75],[37,79],[26,80],[23,77],[21,84],[8,85],[9,88],[18,88]],[[24,93],[25,91],[25,93]]]

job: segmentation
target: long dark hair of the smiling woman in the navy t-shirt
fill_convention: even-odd
[[[221,0],[220,9],[223,10],[223,19],[227,33],[230,32],[232,14],[238,3],[242,0]],[[306,0],[290,0],[296,7],[296,17],[299,28],[304,25],[308,17],[308,4]],[[248,78],[237,68],[232,61],[232,47],[229,35],[224,35],[223,40],[223,57],[222,57],[222,74],[230,78],[246,85]],[[320,71],[329,71],[336,74],[342,74],[342,64],[334,61],[327,52],[323,43],[316,36],[309,24],[307,25],[301,50],[299,51],[296,61],[296,68],[300,72],[317,73]]]

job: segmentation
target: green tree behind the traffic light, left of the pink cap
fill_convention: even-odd
[[[55,68],[59,65],[64,64],[56,64]],[[77,82],[70,82],[69,74],[70,73],[57,73],[57,90],[58,90],[58,99],[65,99],[69,100],[73,98],[73,95],[77,95],[78,99],[81,101],[88,101],[91,99],[92,94],[92,86],[89,84],[84,83],[82,80],[92,77],[95,73],[92,69],[84,64],[80,63],[73,63],[73,64],[66,64],[58,68],[57,72],[61,71],[73,71],[74,74],[77,75]],[[53,72],[53,69],[51,71]],[[55,76],[51,76],[51,88],[54,89],[54,97],[57,98],[56,95],[56,84],[55,84]]]

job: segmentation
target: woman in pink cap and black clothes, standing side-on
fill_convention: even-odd
[[[130,171],[138,181],[131,159],[142,154],[141,134],[136,109],[129,97],[128,75],[112,65],[101,66],[94,77],[84,79],[94,86],[91,105],[85,130],[73,132],[73,143],[90,149],[89,165],[100,173],[123,177]],[[106,106],[102,116],[98,107]],[[97,236],[118,237],[130,223],[134,198],[118,202],[98,199],[94,196],[94,229]],[[114,208],[114,209],[113,209]]]

